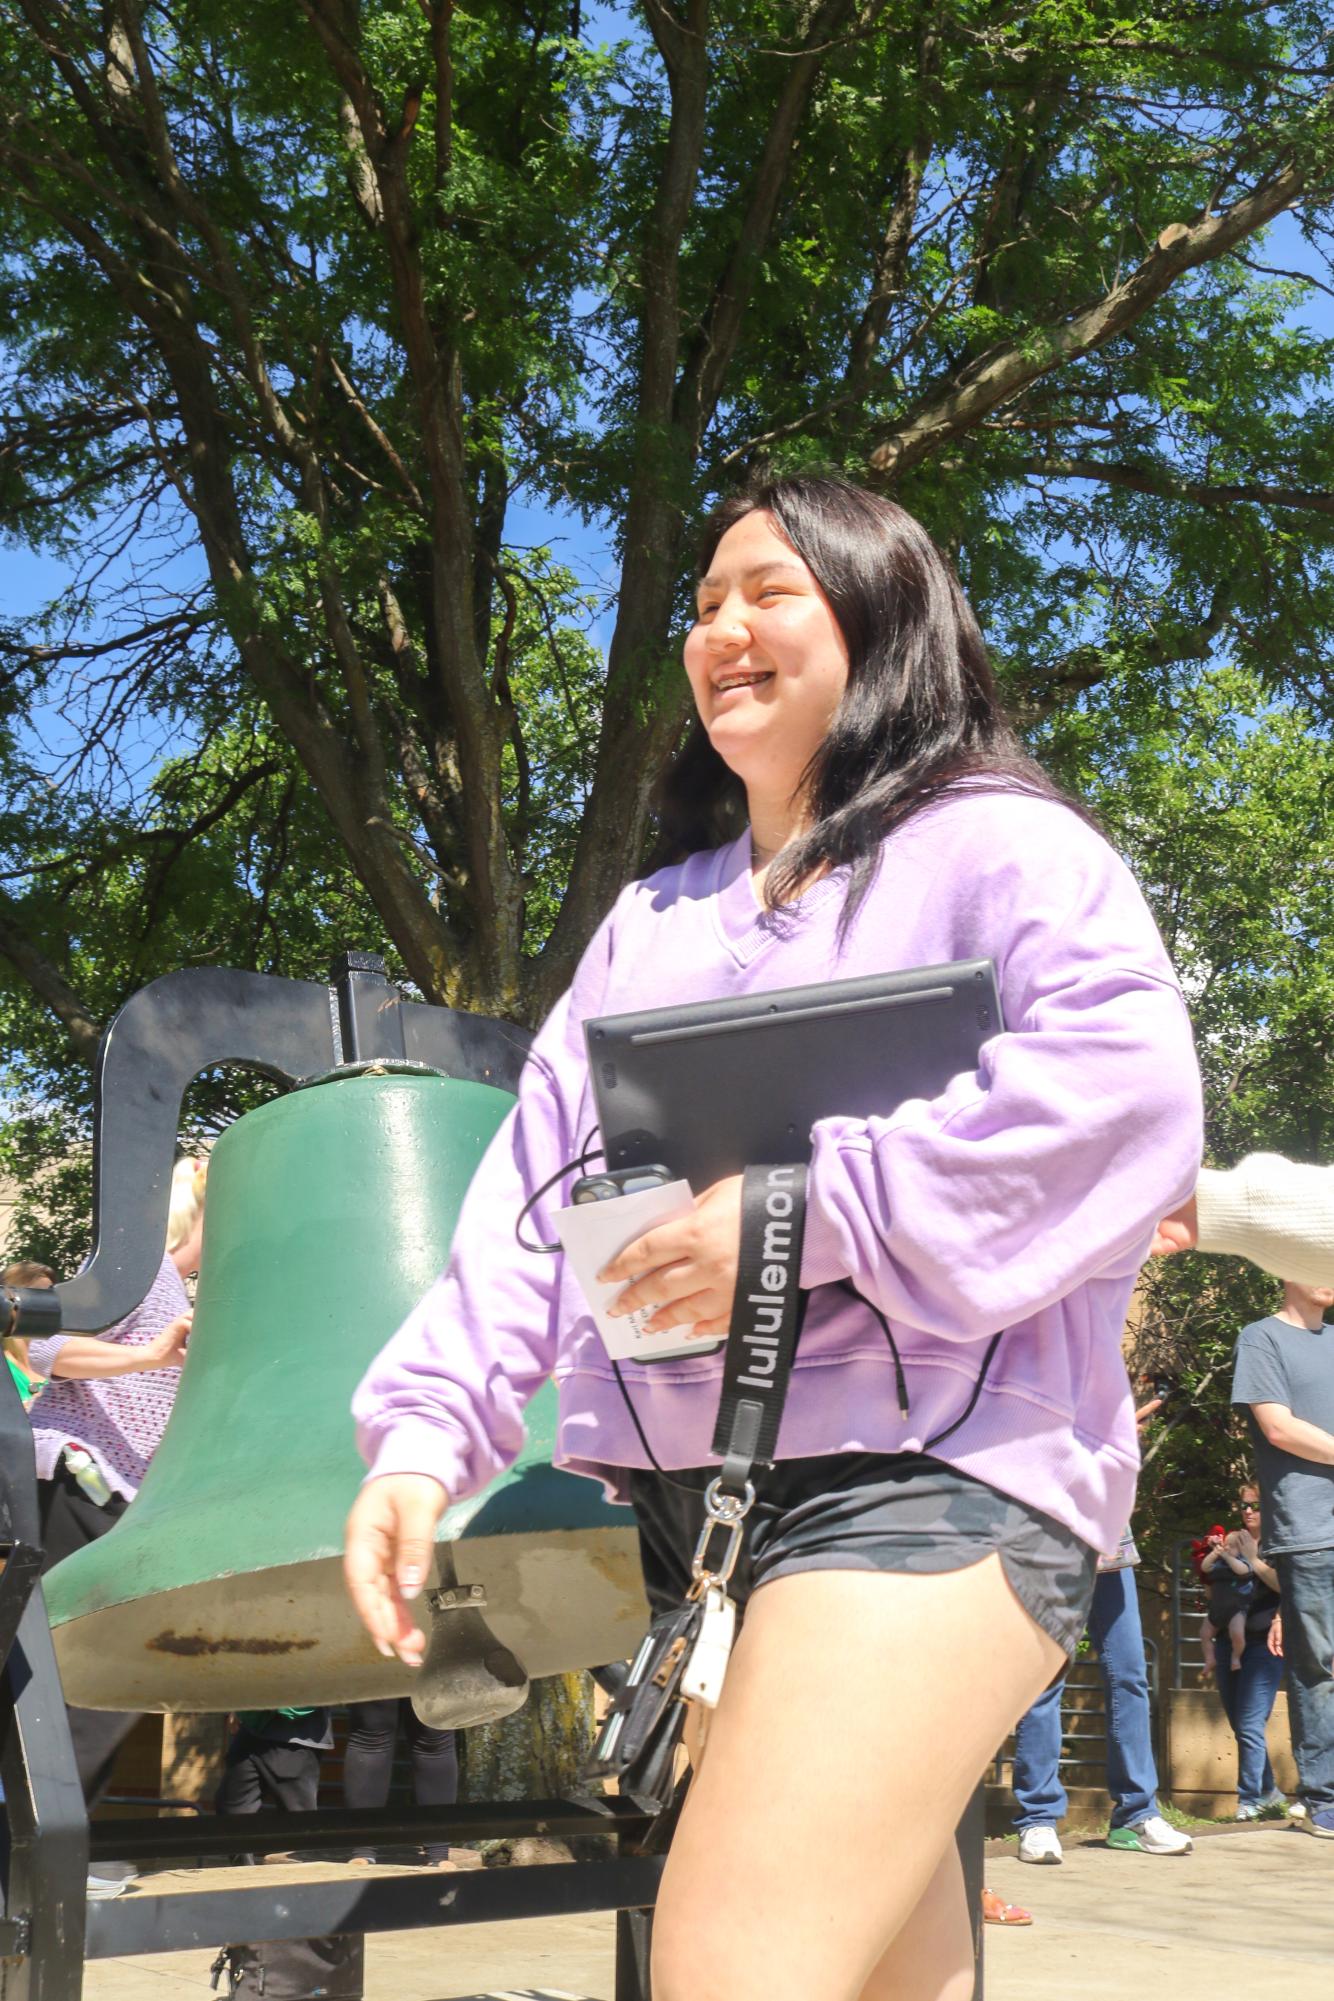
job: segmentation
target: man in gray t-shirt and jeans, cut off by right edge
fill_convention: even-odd
[[[1288,1709],[1308,1827],[1334,1841],[1334,1287],[1284,1285],[1242,1329],[1232,1403],[1246,1405],[1264,1555],[1282,1587]]]

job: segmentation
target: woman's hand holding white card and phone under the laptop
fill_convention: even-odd
[[[742,1247],[742,1177],[728,1175],[698,1195],[688,1217],[674,1217],[636,1237],[602,1267],[604,1285],[628,1281],[612,1315],[652,1307],[646,1335],[690,1327],[700,1339],[726,1335]]]

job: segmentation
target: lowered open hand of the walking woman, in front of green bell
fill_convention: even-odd
[[[448,1495],[428,1473],[366,1481],[348,1515],[342,1575],[362,1625],[386,1659],[420,1667],[426,1637],[408,1603],[430,1575]]]

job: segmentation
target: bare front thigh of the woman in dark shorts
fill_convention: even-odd
[[[658,1897],[654,2001],[856,2001],[1062,1663],[994,1555],[756,1591]]]

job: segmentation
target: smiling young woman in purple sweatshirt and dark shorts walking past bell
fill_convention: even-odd
[[[634,1501],[650,1597],[680,1597],[722,1357],[626,1371],[650,1461],[574,1281],[514,1247],[594,1123],[582,1023],[990,956],[1006,1031],[976,1073],[812,1133],[814,1293],[652,1975],[656,2001],[964,2001],[956,1821],[1078,1645],[1134,1501],[1120,1333],[1200,1165],[1190,1029],[1128,870],[1018,748],[902,508],[822,478],[726,502],[686,674],[700,726],[664,830],[690,852],[594,936],[448,1273],[358,1393],[348,1581],[378,1645],[420,1661],[410,1599],[446,1495],[512,1459],[554,1373],[558,1461]],[[608,1269],[634,1279],[622,1307],[724,1333],[738,1217],[724,1181],[632,1245]]]

